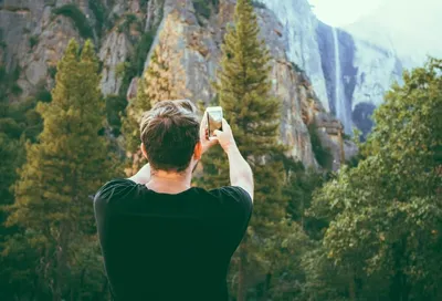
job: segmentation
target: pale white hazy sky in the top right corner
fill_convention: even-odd
[[[442,0],[308,0],[317,18],[404,54],[442,58]],[[351,24],[354,23],[354,24]]]

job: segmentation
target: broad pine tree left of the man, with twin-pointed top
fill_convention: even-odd
[[[74,268],[82,264],[75,261],[77,252],[95,232],[91,196],[110,172],[107,143],[99,135],[105,114],[98,85],[94,45],[87,41],[78,58],[72,40],[59,64],[52,103],[38,105],[43,132],[25,147],[7,220],[34,233],[28,242],[40,253],[40,277],[53,300],[63,299]]]

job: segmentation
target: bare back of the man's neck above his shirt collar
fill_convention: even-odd
[[[164,194],[179,194],[191,187],[192,174],[190,170],[183,173],[169,173],[155,170],[151,173],[150,180],[146,187]]]

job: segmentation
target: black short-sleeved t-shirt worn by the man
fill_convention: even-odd
[[[94,203],[115,300],[228,300],[230,259],[252,214],[244,189],[167,195],[117,179]]]

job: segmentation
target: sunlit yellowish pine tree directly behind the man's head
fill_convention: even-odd
[[[130,167],[126,169],[127,175],[138,172],[143,162],[139,150],[139,122],[143,113],[149,111],[157,102],[189,96],[186,82],[182,80],[183,70],[179,65],[169,63],[169,52],[170,50],[161,42],[155,48],[148,69],[138,80],[137,96],[126,110],[123,134],[130,162]]]

